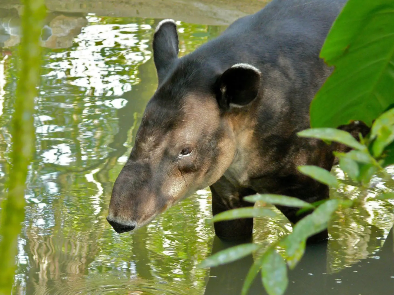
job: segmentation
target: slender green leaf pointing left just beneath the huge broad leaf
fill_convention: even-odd
[[[364,145],[359,143],[350,133],[335,128],[312,128],[297,133],[301,137],[318,138],[321,140],[329,140],[345,144],[354,149],[366,149]]]

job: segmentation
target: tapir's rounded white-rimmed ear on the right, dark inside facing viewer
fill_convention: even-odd
[[[252,65],[238,63],[217,80],[217,100],[222,109],[242,107],[257,96],[261,72]]]

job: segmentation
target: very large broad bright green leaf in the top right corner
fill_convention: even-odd
[[[349,0],[320,55],[335,70],[312,101],[312,127],[371,125],[394,102],[394,2]]]

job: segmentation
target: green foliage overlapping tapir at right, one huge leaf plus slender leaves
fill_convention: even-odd
[[[338,142],[353,148],[348,153],[335,153],[340,168],[351,185],[368,190],[371,177],[384,167],[394,164],[394,2],[392,0],[349,0],[338,16],[321,51],[333,74],[316,94],[310,108],[311,126],[298,133],[318,138],[327,144]],[[346,131],[335,129],[354,120],[371,126],[366,138],[357,141]],[[317,128],[318,127],[318,128]],[[337,188],[343,180],[316,166],[299,166],[299,171],[317,181]],[[378,199],[394,198],[387,192]],[[294,268],[305,252],[307,238],[327,228],[327,223],[341,206],[357,206],[357,200],[330,199],[308,204],[282,195],[253,195],[250,202],[300,207],[314,211],[301,219],[288,236],[271,245],[256,258],[245,279],[245,295],[262,270],[262,282],[269,295],[282,295],[288,285],[287,266]],[[256,209],[256,208],[255,208]],[[214,217],[213,221],[252,218],[269,215],[253,208],[234,209]],[[268,209],[264,209],[268,210]],[[257,214],[258,213],[258,214]],[[284,257],[277,248],[284,249]],[[251,244],[236,246],[207,258],[201,267],[232,262],[260,249]],[[242,251],[245,251],[242,253]]]

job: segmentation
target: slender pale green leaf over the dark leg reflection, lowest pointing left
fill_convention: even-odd
[[[233,262],[249,254],[258,250],[261,246],[258,244],[248,243],[248,244],[241,244],[229,249],[225,249],[214,255],[206,258],[199,264],[198,267],[205,268],[205,267],[214,267],[222,264],[226,264],[229,262]]]

